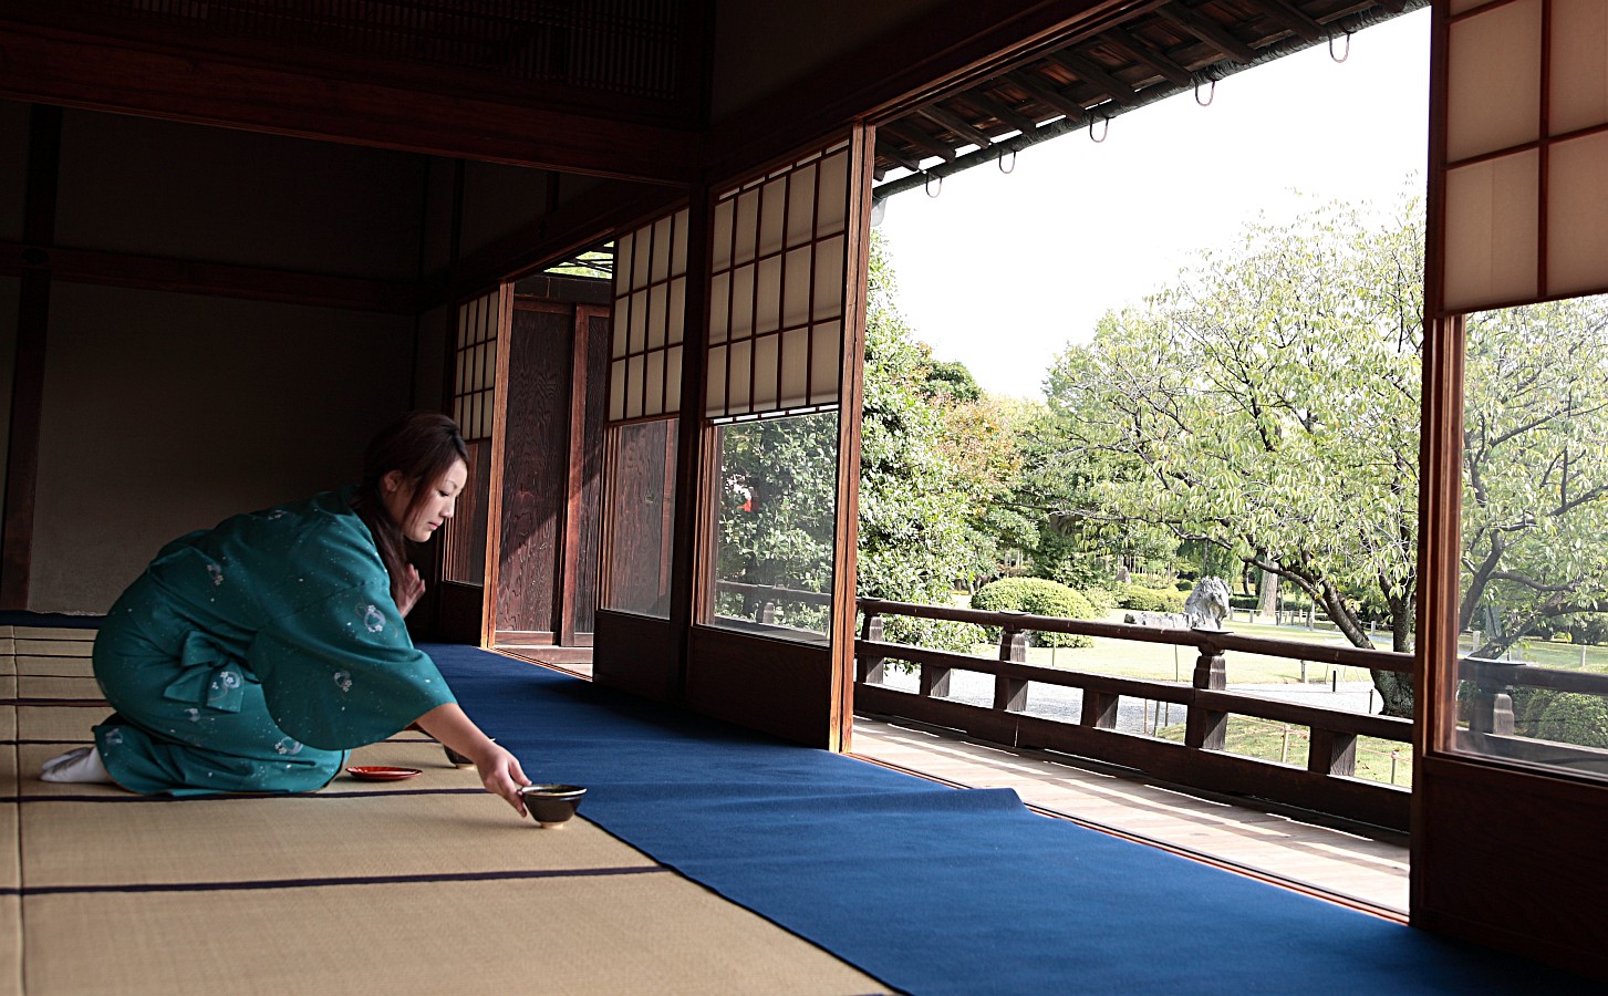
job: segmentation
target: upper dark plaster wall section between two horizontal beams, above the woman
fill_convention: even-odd
[[[56,243],[412,280],[428,159],[68,111]]]

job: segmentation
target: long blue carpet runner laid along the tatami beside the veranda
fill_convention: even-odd
[[[468,647],[463,708],[582,814],[907,993],[1600,993],[1026,809]],[[757,676],[756,676],[757,677]]]

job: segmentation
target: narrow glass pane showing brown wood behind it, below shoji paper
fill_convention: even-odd
[[[675,418],[608,430],[617,446],[608,473],[609,547],[605,608],[661,619],[671,615],[671,539],[675,520]]]

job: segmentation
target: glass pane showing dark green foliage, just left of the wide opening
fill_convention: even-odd
[[[714,605],[706,623],[825,644],[838,414],[720,426]]]

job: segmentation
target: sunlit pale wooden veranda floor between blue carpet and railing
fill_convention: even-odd
[[[544,661],[592,676],[590,660]],[[1024,803],[1089,827],[1169,848],[1256,877],[1293,883],[1386,916],[1407,914],[1407,835],[1288,808],[1192,792],[1137,772],[966,740],[880,716],[854,718],[854,756],[973,788],[1013,788]]]

